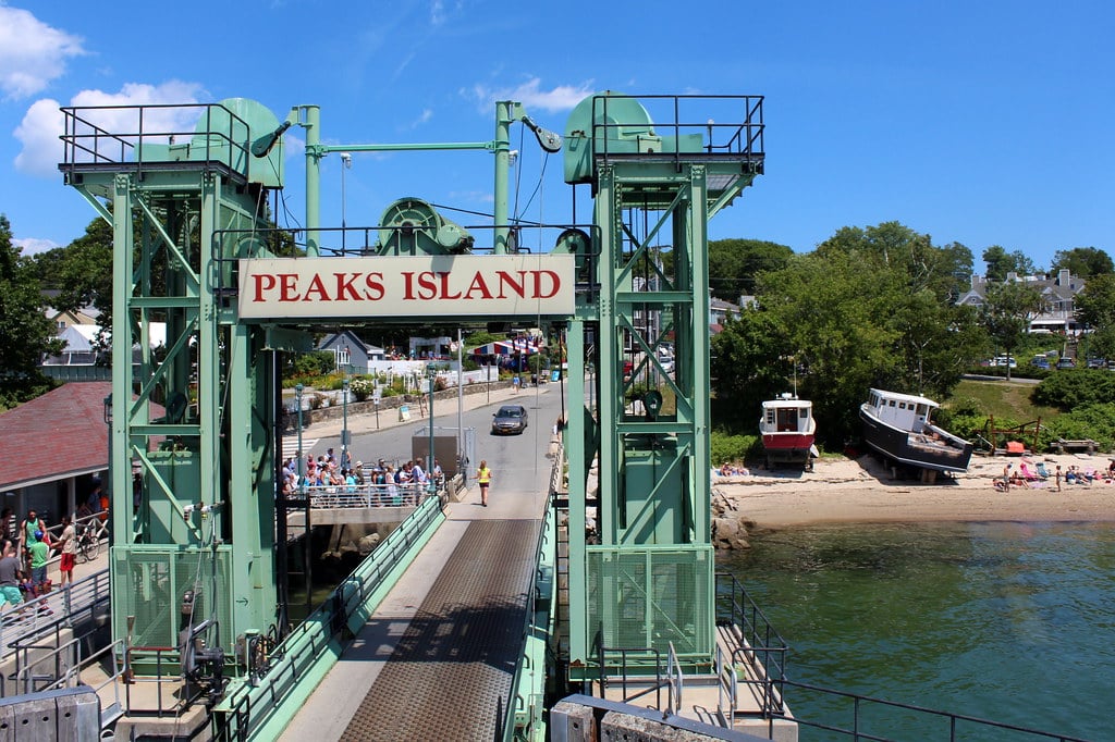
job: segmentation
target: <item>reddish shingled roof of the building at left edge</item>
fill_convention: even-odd
[[[74,382],[0,413],[0,490],[107,468],[112,391],[107,381]]]

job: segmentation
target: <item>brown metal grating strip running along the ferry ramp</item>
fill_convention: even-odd
[[[468,526],[341,739],[494,739],[522,653],[537,528]]]

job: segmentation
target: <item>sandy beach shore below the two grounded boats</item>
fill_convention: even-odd
[[[1034,457],[1050,475],[1063,470],[1105,471],[1106,455]],[[997,491],[992,485],[1006,465],[1018,468],[1018,457],[972,458],[971,467],[954,479],[934,485],[892,480],[872,457],[818,460],[813,472],[780,469],[712,480],[714,502],[726,506],[758,527],[831,523],[918,521],[1115,521],[1115,482],[1065,485],[1060,491],[1050,476],[1030,488]]]

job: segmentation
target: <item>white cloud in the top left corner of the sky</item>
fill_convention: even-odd
[[[80,37],[0,4],[0,91],[6,99],[39,92],[66,71],[67,59],[84,53]]]

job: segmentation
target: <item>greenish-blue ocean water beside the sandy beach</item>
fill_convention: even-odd
[[[719,567],[789,644],[791,680],[1115,741],[1115,526],[803,527],[752,546]],[[787,701],[798,716],[851,725],[846,702],[794,689]],[[873,710],[867,721],[889,739],[949,739],[927,716]],[[962,729],[957,739],[1041,739]]]

